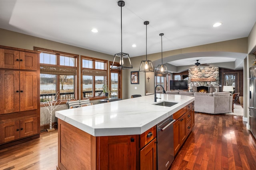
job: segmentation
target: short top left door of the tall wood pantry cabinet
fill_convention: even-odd
[[[0,49],[0,68],[19,69],[20,52],[15,50]]]

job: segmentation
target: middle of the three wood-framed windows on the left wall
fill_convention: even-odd
[[[100,98],[104,96],[102,86],[108,84],[106,60],[81,56],[82,95],[83,98]]]

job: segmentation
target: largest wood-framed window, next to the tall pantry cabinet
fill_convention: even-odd
[[[78,55],[34,47],[40,53],[40,102],[77,99]],[[60,95],[56,96],[59,92]],[[57,98],[56,98],[57,97]]]

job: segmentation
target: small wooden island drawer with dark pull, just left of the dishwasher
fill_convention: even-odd
[[[140,135],[140,148],[143,148],[156,137],[156,126],[148,129]]]

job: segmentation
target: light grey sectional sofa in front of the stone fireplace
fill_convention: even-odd
[[[157,91],[162,93],[162,91]],[[233,97],[230,92],[198,93],[184,91],[166,91],[166,94],[186,95],[195,98],[195,111],[210,114],[231,113]]]

